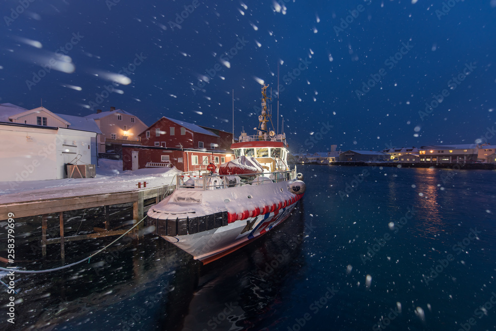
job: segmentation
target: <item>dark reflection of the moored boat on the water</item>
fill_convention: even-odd
[[[260,330],[281,303],[281,287],[305,265],[304,215],[302,200],[278,228],[205,266],[183,330]]]

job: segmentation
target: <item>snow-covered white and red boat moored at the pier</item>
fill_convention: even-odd
[[[243,132],[231,146],[236,159],[217,173],[178,174],[176,190],[147,213],[147,226],[203,264],[286,220],[305,193],[303,174],[288,166],[286,135],[268,130],[267,87],[256,134]]]

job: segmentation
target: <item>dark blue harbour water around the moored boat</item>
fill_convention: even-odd
[[[299,171],[292,216],[207,266],[145,235],[17,275],[15,330],[495,330],[495,171]],[[71,243],[67,263],[108,242]]]

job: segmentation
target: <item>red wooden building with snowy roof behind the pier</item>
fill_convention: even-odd
[[[123,145],[123,170],[174,165],[182,171],[219,166],[234,155],[219,149],[220,137],[198,125],[162,117],[139,134],[141,145]]]

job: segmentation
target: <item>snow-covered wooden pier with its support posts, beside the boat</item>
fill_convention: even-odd
[[[122,220],[120,224],[110,225],[109,207],[132,203],[133,223],[143,218],[150,206],[170,195],[175,185],[176,169],[143,169],[145,172],[124,172],[98,175],[96,178],[60,179],[43,181],[25,181],[17,183],[0,183],[0,221],[7,220],[10,215],[14,219],[28,218],[29,222],[39,222],[41,216],[41,248],[42,255],[47,255],[47,245],[61,245],[61,258],[65,258],[64,243],[75,240],[100,238],[121,235],[131,225],[130,220]],[[149,173],[148,173],[148,172]],[[153,172],[155,171],[155,172]],[[162,172],[157,172],[162,171]],[[144,187],[146,182],[146,187]],[[87,210],[101,207],[104,227],[93,227],[92,233],[64,236],[64,212]],[[59,214],[60,237],[47,237],[49,215]],[[31,218],[29,220],[29,218]],[[38,225],[39,226],[39,225]]]

